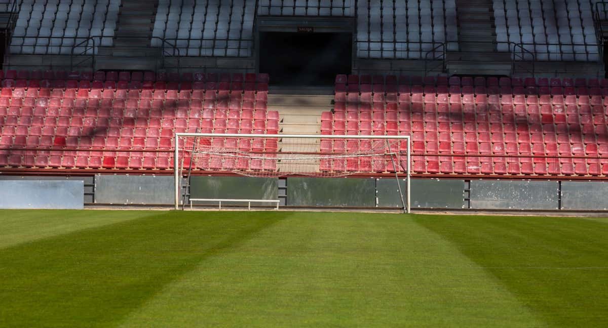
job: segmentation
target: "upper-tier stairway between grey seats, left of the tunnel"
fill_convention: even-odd
[[[154,63],[143,60],[150,57],[151,52],[159,52],[160,49],[150,48],[150,38],[156,19],[158,1],[133,0],[123,1],[120,5],[116,31],[114,32],[114,47],[100,47],[98,67],[102,69],[151,69]],[[107,63],[103,56],[109,56]],[[122,57],[123,61],[117,61],[116,57]],[[150,59],[150,61],[153,61]],[[116,67],[116,66],[119,67]]]

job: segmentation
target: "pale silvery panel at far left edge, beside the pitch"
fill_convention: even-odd
[[[80,210],[84,183],[69,180],[0,180],[0,208]]]

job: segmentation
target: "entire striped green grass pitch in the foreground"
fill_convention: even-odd
[[[608,220],[3,211],[0,327],[608,326]]]

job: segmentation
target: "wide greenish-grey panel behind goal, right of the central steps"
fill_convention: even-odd
[[[288,178],[288,206],[375,207],[375,179]]]

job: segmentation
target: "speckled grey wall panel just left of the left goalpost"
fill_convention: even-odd
[[[95,203],[170,205],[174,198],[172,176],[95,176]]]

